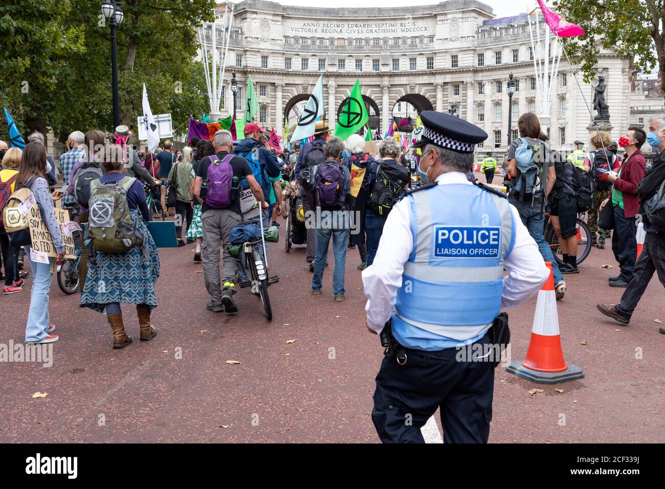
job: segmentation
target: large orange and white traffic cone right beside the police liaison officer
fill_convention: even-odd
[[[582,379],[584,377],[582,369],[567,364],[563,359],[552,263],[546,261],[545,265],[549,268],[549,277],[538,292],[527,357],[523,362],[511,362],[506,370],[540,384],[557,384]]]

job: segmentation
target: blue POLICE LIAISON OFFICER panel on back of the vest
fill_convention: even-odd
[[[496,258],[501,250],[499,226],[436,226],[434,256]]]

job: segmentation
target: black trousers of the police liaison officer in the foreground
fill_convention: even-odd
[[[488,334],[477,341],[489,342]],[[457,361],[458,353],[407,349],[405,365],[384,358],[372,410],[382,442],[424,443],[420,428],[440,408],[446,443],[487,443],[494,369],[490,362]]]

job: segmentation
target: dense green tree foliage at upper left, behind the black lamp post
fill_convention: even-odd
[[[3,0],[0,103],[19,129],[112,130],[110,26],[102,0]],[[154,114],[174,128],[207,111],[195,28],[213,18],[213,0],[125,0],[116,29],[120,118],[136,126],[146,84]],[[25,84],[29,89],[25,92]],[[23,91],[22,91],[23,88]],[[0,137],[7,126],[0,123]]]

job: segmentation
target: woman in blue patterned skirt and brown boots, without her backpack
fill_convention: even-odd
[[[123,163],[120,148],[114,144],[106,146],[102,165],[106,174],[99,181],[102,184],[118,182],[129,185],[128,176],[122,173]],[[146,203],[146,193],[141,182],[134,180],[128,187],[127,204],[136,230],[143,234],[141,246],[134,246],[124,253],[103,253],[94,251],[94,260],[88,267],[80,303],[100,313],[106,309],[106,318],[113,330],[113,348],[124,348],[132,343],[125,333],[122,323],[120,303],[136,304],[136,314],[140,325],[140,339],[152,339],[157,330],[150,324],[150,312],[157,307],[155,283],[160,276],[160,257],[155,242],[146,227],[150,212]]]

